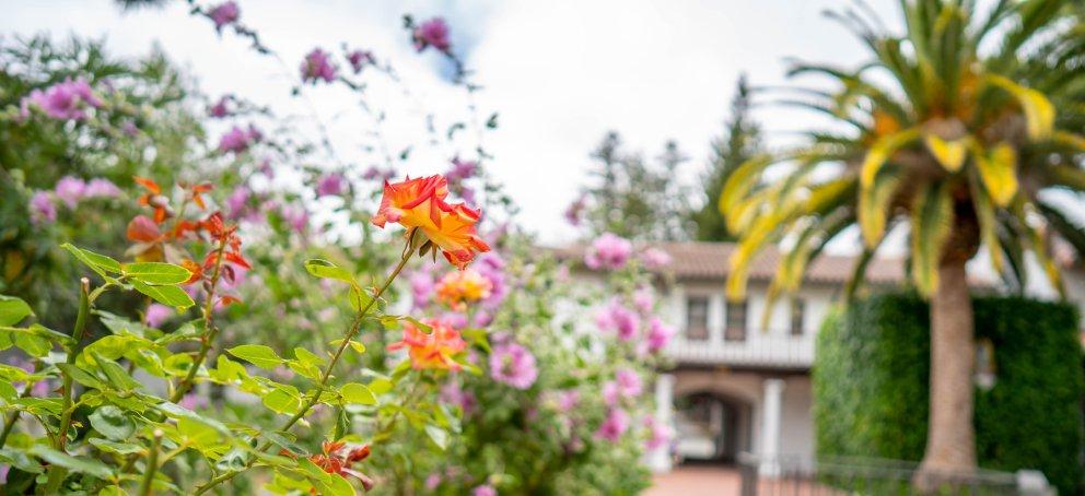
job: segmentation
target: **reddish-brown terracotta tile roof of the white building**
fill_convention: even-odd
[[[673,273],[678,279],[723,280],[728,273],[727,261],[735,249],[733,243],[653,243],[639,248],[655,247],[670,255],[672,262],[661,272]],[[582,260],[585,246],[574,245],[555,250],[562,259]],[[781,253],[769,247],[754,260],[750,267],[751,281],[769,281],[775,275]],[[855,267],[856,257],[822,253],[806,270],[806,282],[843,284]],[[905,280],[905,261],[901,259],[876,258],[866,267],[866,281],[873,284],[892,284]]]

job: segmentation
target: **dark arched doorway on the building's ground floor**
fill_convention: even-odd
[[[751,406],[716,392],[701,391],[675,402],[677,454],[682,462],[734,463],[750,449]]]

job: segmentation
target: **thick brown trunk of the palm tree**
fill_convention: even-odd
[[[917,483],[936,486],[938,475],[976,470],[972,373],[976,344],[972,302],[962,257],[946,257],[931,298],[931,417],[926,453]],[[928,484],[923,484],[926,480]]]

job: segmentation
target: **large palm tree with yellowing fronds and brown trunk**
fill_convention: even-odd
[[[1051,191],[1085,191],[1085,28],[1080,2],[901,0],[902,36],[870,9],[830,14],[870,50],[855,70],[800,64],[839,84],[788,101],[830,116],[810,144],[743,164],[720,209],[740,233],[727,293],[740,298],[766,245],[791,246],[771,298],[797,288],[807,262],[859,225],[862,281],[887,231],[909,225],[909,270],[931,300],[931,410],[921,474],[973,470],[972,308],[965,262],[982,247],[1024,286],[1031,251],[1061,287],[1052,229],[1085,253],[1085,231]],[[770,169],[771,166],[771,169]],[[784,170],[781,170],[784,169]],[[767,172],[768,170],[768,172]],[[1080,200],[1080,199],[1078,199]],[[1005,268],[1008,265],[1008,268]]]

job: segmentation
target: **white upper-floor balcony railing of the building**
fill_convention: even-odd
[[[814,340],[750,331],[744,341],[677,338],[666,353],[678,363],[690,365],[807,368],[814,363]]]

